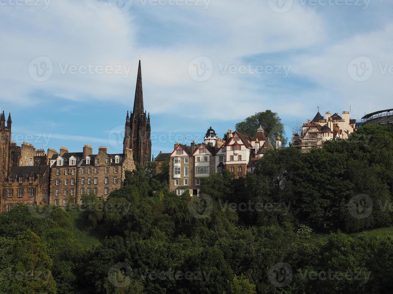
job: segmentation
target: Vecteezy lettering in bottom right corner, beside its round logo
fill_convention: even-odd
[[[299,276],[302,280],[310,279],[312,281],[315,280],[347,280],[347,281],[363,281],[363,284],[367,283],[371,272],[365,272],[361,270],[355,270],[355,271],[340,271],[340,270],[332,270],[328,269],[327,271],[321,270],[320,272],[316,272],[314,270],[301,270],[298,269]]]

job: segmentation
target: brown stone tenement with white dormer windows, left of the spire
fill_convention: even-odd
[[[107,199],[109,193],[119,189],[125,179],[125,171],[135,169],[133,152],[126,148],[122,154],[108,154],[101,146],[93,154],[90,145],[83,152],[68,152],[60,148],[50,160],[50,204],[65,207],[70,201],[81,204],[81,195],[97,195]]]

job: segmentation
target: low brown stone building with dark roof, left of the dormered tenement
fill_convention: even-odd
[[[48,165],[11,167],[4,182],[4,211],[9,212],[20,204],[48,204],[49,173]]]

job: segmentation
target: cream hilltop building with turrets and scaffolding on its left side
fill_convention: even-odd
[[[318,111],[311,121],[307,120],[300,128],[296,128],[292,146],[301,152],[308,152],[310,149],[322,148],[328,140],[347,139],[356,128],[356,120],[351,119],[349,111],[343,111],[342,116],[338,113],[332,115],[328,111],[325,117]]]

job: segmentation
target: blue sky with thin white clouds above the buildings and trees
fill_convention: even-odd
[[[120,153],[141,58],[154,156],[266,109],[290,137],[317,107],[393,108],[392,12],[391,0],[0,0],[0,105],[18,145]]]

